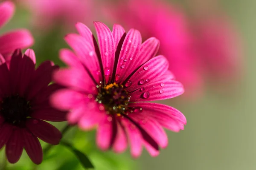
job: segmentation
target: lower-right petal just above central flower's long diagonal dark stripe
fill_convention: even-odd
[[[156,120],[147,117],[146,114],[143,116],[141,114],[130,114],[129,117],[137,122],[140,127],[142,127],[143,130],[145,130],[157,142],[157,144],[159,144],[160,147],[167,147],[167,135]]]

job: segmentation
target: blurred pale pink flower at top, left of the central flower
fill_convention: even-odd
[[[93,21],[93,0],[21,0],[32,13],[32,23],[41,30],[54,26],[70,28],[77,22]]]

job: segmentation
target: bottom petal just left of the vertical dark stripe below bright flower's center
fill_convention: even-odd
[[[96,134],[96,144],[102,150],[109,149],[111,145],[111,138],[113,135],[113,125],[112,122],[108,120],[108,116],[105,116],[101,122],[99,122],[99,126]]]

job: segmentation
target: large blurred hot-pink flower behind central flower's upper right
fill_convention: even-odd
[[[201,91],[198,56],[193,46],[193,35],[183,11],[161,0],[127,0],[103,6],[113,22],[126,28],[136,28],[142,36],[160,40],[160,54],[169,60],[169,69],[186,89],[186,95]]]

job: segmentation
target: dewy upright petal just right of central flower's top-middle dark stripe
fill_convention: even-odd
[[[122,50],[120,51],[119,60],[116,68],[116,75],[120,76],[117,81],[122,83],[135,69],[134,64],[137,62],[137,57],[140,52],[141,35],[140,32],[131,29],[123,42]]]

